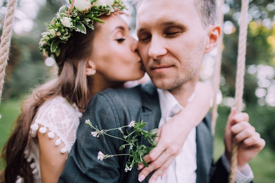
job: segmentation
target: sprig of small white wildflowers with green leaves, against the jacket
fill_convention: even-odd
[[[127,154],[105,155],[100,151],[98,152],[98,156],[97,156],[98,160],[102,161],[104,159],[107,159],[113,156],[127,155],[129,156],[129,158],[125,165],[125,172],[131,171],[135,164],[136,164],[136,167],[138,167],[138,163],[142,163],[145,167],[148,167],[148,164],[144,161],[143,156],[145,156],[146,154],[149,154],[149,152],[154,147],[156,147],[157,142],[154,141],[154,138],[156,137],[157,129],[153,129],[151,131],[143,130],[142,128],[145,127],[146,125],[146,123],[143,120],[141,120],[139,123],[137,123],[136,121],[131,121],[130,124],[127,126],[113,128],[109,130],[100,130],[98,129],[97,126],[94,127],[90,120],[86,120],[85,123],[88,124],[90,128],[95,130],[91,132],[91,135],[93,135],[94,137],[99,137],[100,135],[108,135],[113,138],[118,138],[120,140],[123,140],[125,143],[120,146],[119,150],[123,150],[125,149],[126,146],[129,146],[129,150]],[[129,133],[126,130],[127,134],[125,135],[122,129],[126,127],[132,127],[133,131]],[[107,132],[111,130],[119,130],[120,133],[123,134],[123,138],[119,138],[119,137],[115,137],[107,134]],[[143,136],[143,138],[145,138],[151,144],[151,147],[140,144],[137,138],[138,136]]]

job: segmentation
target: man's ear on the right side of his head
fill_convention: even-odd
[[[205,46],[204,53],[211,52],[218,44],[221,37],[221,26],[211,25],[208,27],[208,39]]]

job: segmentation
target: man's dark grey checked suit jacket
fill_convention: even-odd
[[[160,122],[161,111],[156,88],[152,83],[139,85],[129,89],[108,89],[98,93],[89,102],[86,113],[80,122],[77,139],[69,153],[65,169],[59,178],[59,183],[134,183],[138,182],[139,170],[133,168],[125,172],[127,156],[115,156],[103,161],[97,160],[99,151],[104,154],[124,154],[125,148],[119,151],[123,141],[107,135],[95,138],[91,135],[92,129],[87,127],[85,120],[90,119],[99,129],[112,129],[126,126],[131,120],[147,122],[145,130],[157,128]],[[128,128],[131,131],[131,128]],[[212,161],[213,137],[211,135],[211,117],[207,115],[196,128],[197,143],[197,183],[227,182],[228,173],[221,161],[214,164]],[[121,133],[110,131],[110,135],[119,136]],[[140,139],[142,144],[148,142]],[[148,182],[150,174],[145,181]]]

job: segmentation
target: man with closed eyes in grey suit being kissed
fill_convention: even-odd
[[[83,119],[96,122],[99,129],[112,129],[126,126],[131,120],[144,120],[147,122],[145,130],[152,130],[159,127],[164,114],[171,117],[181,110],[194,92],[204,54],[215,48],[220,37],[220,27],[215,25],[215,6],[215,0],[139,1],[139,51],[154,85],[149,83],[130,89],[103,91],[89,102]],[[152,176],[149,174],[152,171],[150,165],[141,171],[133,168],[125,172],[126,156],[97,160],[99,151],[112,155],[124,154],[127,149],[119,150],[123,142],[118,139],[106,135],[93,137],[91,129],[82,120],[77,140],[58,182],[227,182],[232,133],[237,134],[234,140],[240,142],[240,171],[236,181],[250,182],[253,173],[247,163],[265,143],[248,124],[248,117],[244,114],[235,115],[234,119],[233,114],[229,116],[225,135],[226,155],[216,164],[212,162],[213,137],[211,119],[207,115],[190,132],[186,141],[189,148],[173,160],[167,176],[149,181]],[[111,131],[110,135],[121,137],[119,131]],[[143,138],[140,141],[149,145]]]

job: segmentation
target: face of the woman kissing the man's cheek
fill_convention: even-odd
[[[97,75],[108,81],[131,81],[144,76],[137,41],[130,35],[129,26],[119,16],[103,17],[97,23],[99,31],[93,41],[91,60]]]

